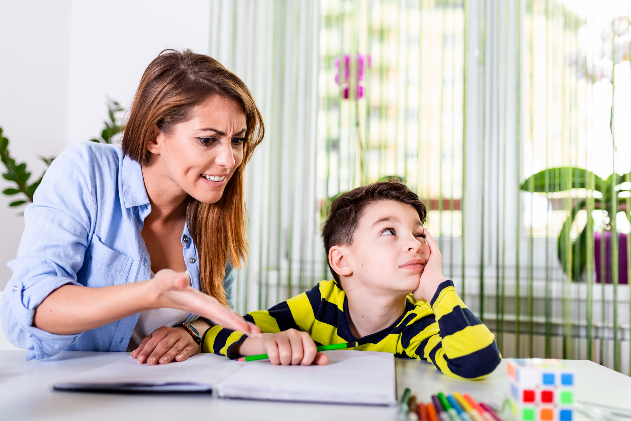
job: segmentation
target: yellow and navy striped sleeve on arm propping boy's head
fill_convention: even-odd
[[[447,376],[471,380],[500,364],[495,336],[458,297],[453,282],[441,283],[430,305],[433,314],[403,329],[406,356],[425,359]]]

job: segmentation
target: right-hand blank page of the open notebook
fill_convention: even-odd
[[[273,365],[252,361],[218,384],[221,398],[396,405],[394,355],[324,352],[327,365]]]

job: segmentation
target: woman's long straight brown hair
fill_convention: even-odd
[[[151,152],[147,142],[156,126],[170,134],[173,126],[189,121],[194,108],[212,95],[237,100],[245,112],[243,161],[216,203],[190,198],[187,222],[198,247],[199,287],[223,304],[228,304],[223,277],[225,265],[241,268],[247,258],[245,233],[245,163],[264,134],[261,112],[240,78],[212,57],[191,50],[163,50],[144,71],[129,112],[122,138],[122,150],[130,158],[147,165]]]

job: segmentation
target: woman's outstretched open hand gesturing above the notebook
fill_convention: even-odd
[[[151,291],[155,294],[155,304],[152,308],[170,307],[184,310],[199,314],[224,328],[242,331],[245,335],[261,335],[261,330],[256,324],[245,321],[243,316],[221,304],[215,297],[191,287],[191,279],[185,272],[163,269],[150,280],[150,285]]]

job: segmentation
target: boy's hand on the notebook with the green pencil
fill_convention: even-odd
[[[329,357],[317,352],[309,333],[287,329],[280,333],[263,333],[261,338],[247,338],[236,350],[240,355],[266,353],[272,364],[326,365]]]

